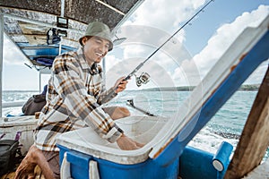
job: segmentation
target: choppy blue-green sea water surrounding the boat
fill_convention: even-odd
[[[143,115],[134,107],[126,106],[126,101],[132,99],[135,107],[142,108],[153,115],[169,117],[175,115],[190,93],[191,91],[128,90],[119,93],[108,105],[127,107],[132,115]],[[235,92],[188,145],[215,153],[222,141],[228,141],[236,149],[256,93],[257,91]],[[2,100],[3,102],[26,101],[33,94],[39,94],[39,92],[3,91]],[[22,107],[4,108],[2,113],[3,116],[22,115]],[[266,158],[269,158],[269,149],[267,149],[263,161]]]

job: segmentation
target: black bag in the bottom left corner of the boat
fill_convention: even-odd
[[[14,171],[17,149],[19,149],[19,141],[0,141],[0,176]]]

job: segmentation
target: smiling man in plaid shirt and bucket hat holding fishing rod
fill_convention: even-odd
[[[41,167],[45,177],[51,177],[52,171],[54,177],[59,178],[56,138],[63,132],[85,126],[91,126],[101,138],[117,142],[120,149],[143,147],[143,144],[126,137],[113,121],[129,115],[125,107],[100,107],[116,97],[118,92],[125,90],[127,84],[125,77],[122,77],[109,90],[105,90],[102,85],[99,63],[113,48],[108,26],[97,21],[91,22],[79,42],[82,46],[80,49],[59,55],[54,61],[48,81],[48,102],[39,115],[35,144],[19,166],[17,177],[22,176],[22,171],[31,173],[34,165],[30,164],[35,164]],[[105,98],[111,93],[113,94],[109,98]],[[33,157],[35,154],[32,153],[38,156]],[[40,164],[40,158],[46,158],[51,170]],[[31,168],[27,168],[27,165]],[[47,174],[44,171],[48,171]]]

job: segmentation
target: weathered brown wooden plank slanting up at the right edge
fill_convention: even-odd
[[[225,179],[241,178],[260,164],[269,145],[269,68],[247,117]]]

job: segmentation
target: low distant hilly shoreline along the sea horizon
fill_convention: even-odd
[[[245,90],[245,91],[250,91],[250,90],[258,90],[260,87],[259,84],[247,84],[247,85],[242,85],[239,90]],[[195,86],[183,86],[183,87],[163,87],[163,88],[151,88],[151,89],[143,89],[143,91],[190,91],[194,90]]]

